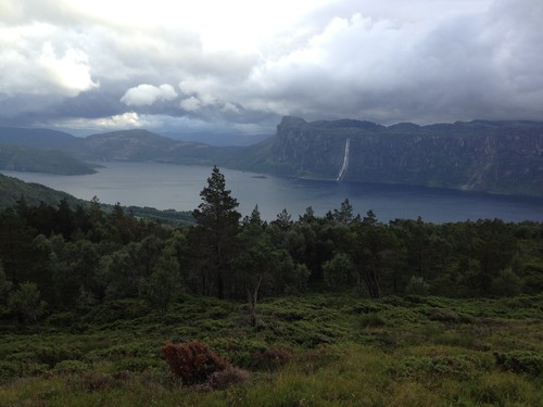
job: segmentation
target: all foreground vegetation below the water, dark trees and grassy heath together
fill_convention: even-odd
[[[0,406],[540,406],[543,224],[0,213]]]

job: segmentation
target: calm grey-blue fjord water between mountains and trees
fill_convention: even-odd
[[[122,205],[159,209],[192,211],[200,204],[212,167],[156,163],[106,163],[98,174],[59,176],[36,173],[0,171],[24,181],[38,182],[74,196]],[[345,198],[355,213],[372,209],[380,220],[420,216],[426,221],[445,222],[502,218],[543,221],[543,199],[492,195],[424,187],[369,183],[338,183],[262,177],[258,174],[222,168],[226,187],[238,199],[241,214],[258,205],[262,217],[273,220],[283,208],[292,219],[312,206],[319,216],[339,208]]]

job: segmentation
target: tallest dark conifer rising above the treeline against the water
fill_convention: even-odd
[[[198,226],[205,232],[210,255],[214,260],[213,271],[219,298],[225,296],[228,260],[232,254],[232,241],[241,217],[236,209],[239,206],[238,200],[230,193],[231,191],[226,189],[225,176],[214,166],[211,177],[207,178],[207,187],[200,192],[202,203],[192,213]]]

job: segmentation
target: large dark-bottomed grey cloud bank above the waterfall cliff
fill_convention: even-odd
[[[543,13],[534,3],[433,21],[336,16],[305,47],[257,66],[244,106],[386,123],[536,118]]]

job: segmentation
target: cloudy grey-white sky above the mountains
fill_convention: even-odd
[[[0,125],[543,119],[543,0],[0,0]]]

